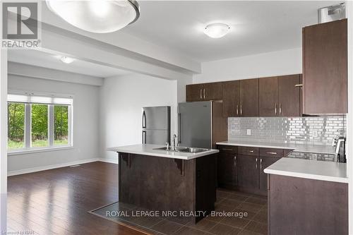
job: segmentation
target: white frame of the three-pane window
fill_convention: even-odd
[[[18,92],[8,92],[9,95],[18,95]],[[29,95],[30,94],[30,95]],[[46,104],[48,106],[48,146],[46,147],[32,147],[32,104],[40,104],[37,102],[18,102],[25,104],[25,128],[24,128],[24,147],[18,149],[7,150],[8,155],[21,155],[30,152],[46,152],[53,150],[66,150],[73,148],[73,96],[72,95],[48,95],[48,94],[34,94],[34,93],[20,93],[20,95],[28,96],[30,100],[31,95],[50,97],[50,98],[66,98],[71,99],[71,104]],[[13,102],[13,101],[8,101]],[[42,104],[42,103],[41,103]],[[54,106],[68,106],[68,144],[54,145]],[[6,146],[7,147],[7,146]]]

